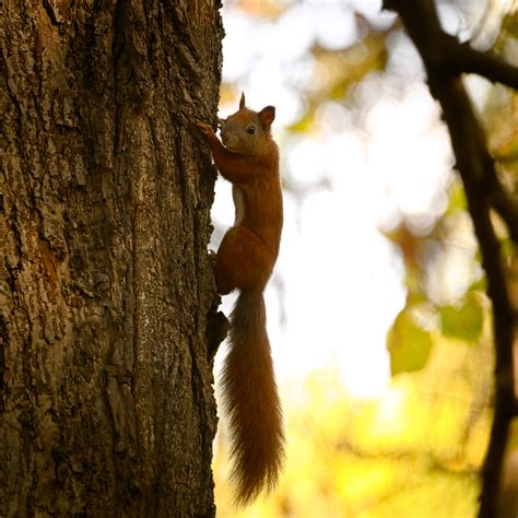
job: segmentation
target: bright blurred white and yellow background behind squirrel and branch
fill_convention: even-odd
[[[518,64],[518,1],[438,9],[447,32]],[[220,115],[236,111],[242,91],[252,109],[276,107],[285,223],[266,299],[287,449],[276,491],[236,509],[222,419],[219,516],[475,516],[490,304],[419,55],[380,0],[228,0],[222,15]],[[478,76],[466,83],[516,193],[518,96]],[[221,179],[212,216],[216,248],[234,221]],[[516,250],[495,225],[518,294]],[[225,297],[226,314],[232,304]]]

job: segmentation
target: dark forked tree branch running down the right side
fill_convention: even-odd
[[[400,15],[426,68],[432,95],[443,107],[457,167],[462,178],[468,209],[482,252],[487,276],[487,295],[493,304],[495,340],[495,409],[490,445],[482,473],[480,517],[496,516],[499,478],[509,423],[516,413],[513,372],[513,340],[516,315],[513,311],[505,273],[501,262],[501,245],[495,235],[490,211],[495,209],[506,221],[515,242],[518,235],[516,208],[499,185],[482,128],[473,113],[460,73],[488,73],[488,79],[516,81],[510,66],[501,67],[492,58],[467,50],[445,34],[432,0],[385,0],[385,9]],[[481,58],[481,56],[484,56]],[[499,60],[498,60],[499,61]],[[513,71],[513,73],[509,73]],[[516,83],[518,86],[518,83]],[[515,217],[515,219],[513,219]]]

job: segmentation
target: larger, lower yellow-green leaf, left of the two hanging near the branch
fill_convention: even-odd
[[[387,335],[392,376],[421,370],[426,365],[432,344],[429,332],[417,326],[408,308],[402,309]]]

